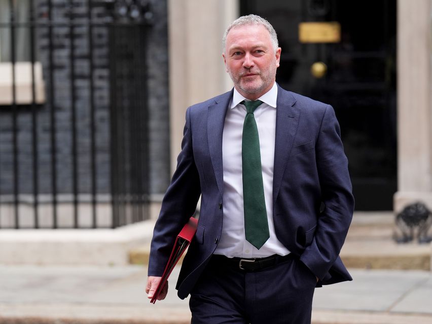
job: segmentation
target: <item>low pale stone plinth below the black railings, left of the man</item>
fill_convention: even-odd
[[[127,265],[128,252],[150,244],[155,221],[116,229],[2,229],[0,264]]]

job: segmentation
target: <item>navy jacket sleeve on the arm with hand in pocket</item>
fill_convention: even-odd
[[[339,256],[354,210],[348,160],[339,124],[330,105],[323,114],[315,147],[321,199],[325,207],[318,216],[312,244],[305,249],[300,260],[322,279]]]

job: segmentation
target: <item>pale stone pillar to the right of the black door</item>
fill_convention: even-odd
[[[432,0],[398,0],[398,192],[432,210]]]

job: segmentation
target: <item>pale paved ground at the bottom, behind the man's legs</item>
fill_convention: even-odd
[[[432,272],[350,272],[354,281],[316,290],[313,323],[432,324]],[[189,323],[173,287],[150,304],[146,275],[142,266],[0,266],[0,323]]]

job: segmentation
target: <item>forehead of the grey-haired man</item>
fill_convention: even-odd
[[[243,46],[271,46],[270,33],[263,25],[250,24],[233,27],[227,35],[227,49]]]

